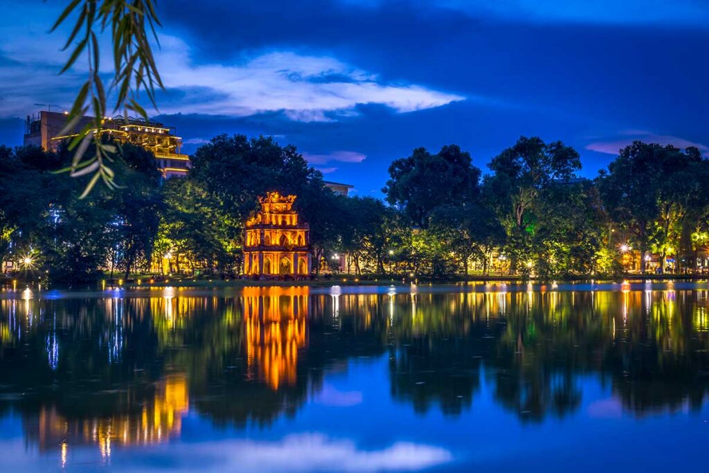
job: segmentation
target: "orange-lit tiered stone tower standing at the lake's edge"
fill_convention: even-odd
[[[261,209],[246,221],[244,274],[252,277],[305,277],[311,272],[310,226],[298,221],[296,196],[269,192]]]

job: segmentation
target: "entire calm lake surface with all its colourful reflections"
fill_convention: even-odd
[[[707,471],[709,285],[0,294],[0,471]]]

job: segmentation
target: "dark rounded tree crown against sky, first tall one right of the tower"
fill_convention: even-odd
[[[390,179],[382,191],[386,201],[406,213],[415,226],[426,228],[434,208],[474,200],[480,174],[469,153],[457,145],[444,146],[435,155],[416,148],[411,156],[391,163]]]

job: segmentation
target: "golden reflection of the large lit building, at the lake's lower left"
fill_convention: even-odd
[[[131,396],[125,399],[135,399]],[[137,410],[140,405],[142,408]],[[101,457],[111,457],[113,445],[130,446],[160,443],[179,436],[182,416],[189,409],[189,396],[184,375],[165,378],[155,389],[155,395],[136,405],[118,406],[121,411],[111,417],[67,418],[55,408],[43,407],[35,421],[23,422],[26,442],[36,443],[40,452],[61,451],[62,466],[72,446],[98,445]]]

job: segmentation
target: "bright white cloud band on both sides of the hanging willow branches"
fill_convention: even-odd
[[[35,102],[71,104],[86,80],[85,61],[58,76],[66,56],[58,51],[61,39],[60,34],[33,38],[18,31],[0,45],[0,116],[23,116],[36,108]],[[110,51],[104,39],[102,52]],[[155,57],[166,87],[158,100],[160,113],[239,117],[279,112],[291,121],[327,122],[356,115],[361,105],[406,113],[465,99],[423,85],[386,82],[327,55],[272,49],[228,62],[199,63],[194,60],[199,52],[181,38],[161,35],[160,43]],[[110,67],[108,57],[102,65]]]

